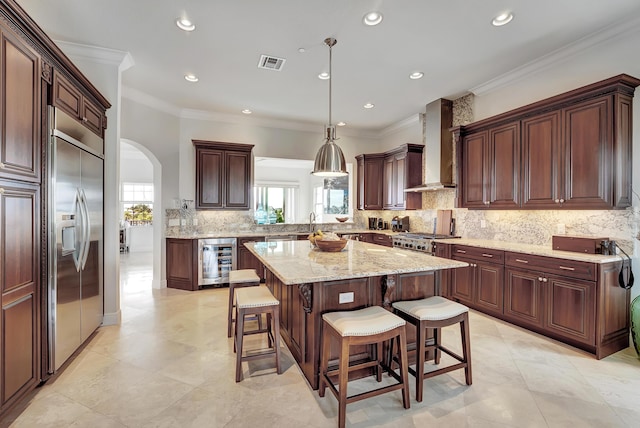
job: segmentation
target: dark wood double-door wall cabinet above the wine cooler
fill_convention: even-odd
[[[253,145],[193,140],[196,150],[196,209],[251,208]]]

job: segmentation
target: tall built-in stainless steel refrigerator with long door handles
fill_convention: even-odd
[[[49,123],[48,372],[100,326],[104,142],[59,109]]]

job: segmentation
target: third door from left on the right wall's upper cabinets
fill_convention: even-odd
[[[558,182],[562,174],[560,113],[553,112],[522,121],[522,206],[558,206]]]

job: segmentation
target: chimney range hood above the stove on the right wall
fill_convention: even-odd
[[[427,104],[424,115],[425,180],[405,192],[451,189],[453,183],[453,102],[443,98]]]

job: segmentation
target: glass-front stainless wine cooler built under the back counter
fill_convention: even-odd
[[[198,287],[229,282],[236,268],[236,238],[198,240]]]

